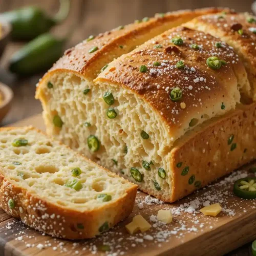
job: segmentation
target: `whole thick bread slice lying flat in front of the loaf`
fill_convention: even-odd
[[[31,127],[0,129],[0,147],[0,206],[30,227],[92,238],[133,209],[136,185]],[[72,175],[77,167],[81,173]]]

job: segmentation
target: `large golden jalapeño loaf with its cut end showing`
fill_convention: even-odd
[[[133,39],[121,29],[118,39],[116,31],[105,33],[67,51],[39,82],[36,97],[48,134],[174,202],[255,158],[254,69],[247,54],[253,50],[243,49],[256,40],[247,14],[204,9],[162,16],[127,26]],[[243,33],[229,24],[238,16]],[[230,36],[221,36],[218,22],[207,22],[211,17]],[[241,37],[243,49],[231,46],[231,34]]]

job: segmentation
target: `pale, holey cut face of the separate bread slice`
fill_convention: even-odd
[[[27,144],[15,146],[15,139]],[[0,130],[0,175],[27,193],[59,208],[90,212],[136,190],[136,185],[109,172],[31,127]],[[72,170],[79,167],[80,174]],[[68,185],[79,181],[80,187]],[[108,200],[103,196],[108,195]]]

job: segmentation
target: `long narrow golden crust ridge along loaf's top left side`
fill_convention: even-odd
[[[227,8],[182,10],[168,12],[164,15],[156,14],[154,18],[150,18],[148,21],[120,26],[111,31],[101,33],[90,41],[86,39],[67,50],[65,55],[55,63],[49,72],[66,69],[94,79],[106,63],[132,51],[134,46],[131,48],[131,44],[135,44],[136,47],[157,34],[187,22],[194,17],[221,11],[230,12]],[[122,49],[119,48],[120,46]],[[98,50],[89,53],[89,50],[93,47],[98,47]]]

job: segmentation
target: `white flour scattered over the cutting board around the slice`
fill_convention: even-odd
[[[42,236],[46,236],[48,239],[42,242],[41,239],[38,239],[37,233],[17,220],[7,222],[0,232],[5,233],[8,237],[13,233],[15,240],[24,242],[24,247],[35,247],[37,250],[51,248],[53,251],[72,255],[82,255],[84,251],[90,251],[92,254],[105,251],[106,255],[118,256],[129,252],[131,247],[144,248],[149,245],[161,247],[163,243],[172,243],[173,239],[184,243],[187,233],[196,234],[214,229],[219,218],[235,218],[246,212],[245,208],[237,210],[238,200],[242,199],[236,198],[232,192],[234,181],[246,176],[248,176],[247,172],[239,170],[174,204],[165,204],[138,191],[133,216],[140,214],[152,225],[152,228],[144,233],[138,232],[130,235],[121,224],[103,233],[102,236],[86,242],[55,239],[44,233]],[[231,203],[230,198],[232,199]],[[222,207],[220,215],[218,217],[203,217],[199,210],[214,203],[220,203]],[[254,200],[247,200],[247,203],[249,208],[256,207]],[[160,209],[172,212],[172,223],[164,224],[157,220],[157,212]],[[129,220],[124,222],[126,225]]]

